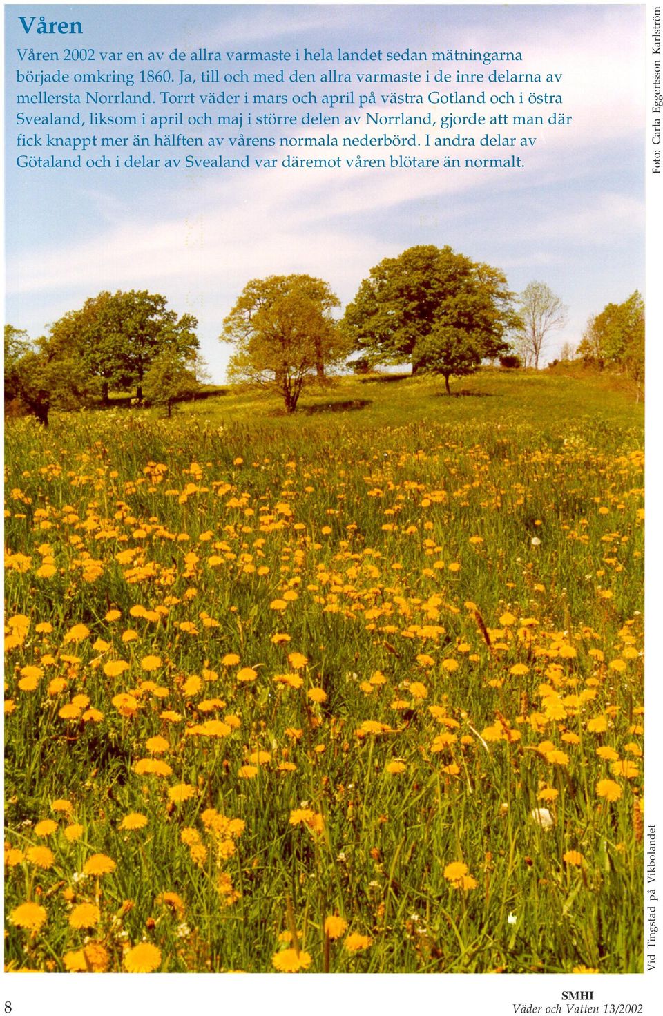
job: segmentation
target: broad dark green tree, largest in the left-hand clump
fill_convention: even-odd
[[[186,357],[198,348],[196,318],[178,317],[167,303],[146,290],[100,293],[51,326],[49,346],[56,357],[79,357],[100,379],[105,397],[109,386],[135,386],[141,398],[143,378],[157,355]]]

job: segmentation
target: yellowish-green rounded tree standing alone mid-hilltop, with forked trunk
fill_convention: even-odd
[[[270,275],[251,279],[223,321],[233,342],[228,376],[277,392],[292,412],[304,387],[347,354],[331,311],[338,297],[321,278]]]

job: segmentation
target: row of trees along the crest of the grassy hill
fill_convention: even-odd
[[[335,318],[339,307],[321,278],[251,279],[219,336],[234,346],[229,378],[278,394],[286,412],[307,386],[327,384],[348,366],[407,364],[414,375],[444,377],[449,392],[452,377],[486,360],[538,369],[550,333],[567,321],[567,308],[545,283],[530,282],[518,296],[499,268],[433,245],[385,258]],[[51,409],[108,404],[111,390],[132,390],[170,416],[200,386],[197,324],[193,315],[169,310],[164,297],[132,290],[100,293],[35,342],[6,325],[5,407],[47,424]],[[640,294],[593,317],[578,353],[641,379]]]

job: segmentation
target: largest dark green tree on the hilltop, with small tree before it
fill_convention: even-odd
[[[371,269],[343,326],[374,364],[411,362],[412,373],[476,370],[508,348],[516,323],[502,271],[451,247],[410,247]]]

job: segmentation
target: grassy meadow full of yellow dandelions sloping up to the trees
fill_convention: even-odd
[[[8,424],[8,969],[642,969],[642,407],[440,389]]]

